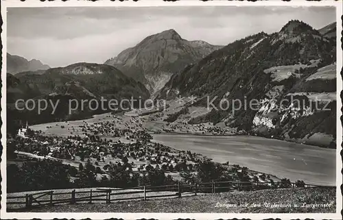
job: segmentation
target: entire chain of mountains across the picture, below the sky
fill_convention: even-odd
[[[257,110],[211,107],[210,112],[188,117],[186,122],[224,123],[244,134],[333,147],[335,32],[335,23],[317,30],[293,20],[279,32],[261,32],[217,46],[185,40],[169,29],[147,36],[104,64],[79,63],[8,74],[8,103],[18,97],[121,99],[132,95],[175,100],[193,95],[197,101],[185,107],[203,108],[208,98],[214,99],[215,107],[221,99],[229,103],[256,99]],[[292,103],[292,98],[301,103]],[[282,103],[285,99],[288,102]],[[323,100],[329,100],[327,106]],[[316,104],[331,110],[314,109]],[[187,111],[176,115],[182,114],[191,115]],[[61,113],[58,119],[44,120],[66,117]],[[36,123],[42,120],[35,119]],[[174,121],[178,123],[178,117]]]

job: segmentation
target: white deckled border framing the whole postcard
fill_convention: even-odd
[[[1,93],[3,97],[1,97],[1,119],[3,125],[1,125],[1,145],[3,147],[3,153],[1,156],[1,176],[3,178],[1,182],[1,189],[3,194],[1,195],[1,212],[0,215],[3,219],[32,219],[32,218],[39,218],[39,219],[53,219],[53,218],[67,218],[67,219],[110,219],[110,218],[123,218],[123,219],[266,219],[266,218],[280,218],[280,219],[341,219],[341,208],[342,208],[342,194],[340,191],[340,186],[342,184],[342,159],[340,156],[341,151],[341,143],[342,143],[342,123],[340,121],[340,117],[342,115],[341,108],[342,108],[342,101],[340,99],[340,92],[342,91],[342,77],[340,76],[340,71],[342,70],[342,47],[341,47],[341,32],[342,32],[342,2],[341,1],[257,1],[257,2],[250,2],[250,1],[176,1],[176,2],[165,2],[165,1],[45,1],[41,2],[38,0],[27,0],[25,2],[21,1],[1,1],[1,15],[3,18],[3,32],[1,33],[1,39],[3,44],[2,49],[2,56],[3,56],[3,68],[1,69],[1,80],[2,80],[2,88]],[[46,212],[46,213],[38,213],[38,212],[6,212],[5,207],[5,198],[6,198],[6,33],[7,33],[7,23],[6,23],[6,10],[8,7],[13,8],[26,8],[26,7],[113,7],[113,6],[120,6],[120,7],[147,7],[147,6],[335,6],[336,7],[336,21],[337,21],[337,150],[336,150],[336,186],[337,187],[337,197],[336,197],[336,213],[292,213],[292,214],[279,214],[279,213],[269,213],[269,214],[249,214],[249,213],[113,213],[113,212]]]

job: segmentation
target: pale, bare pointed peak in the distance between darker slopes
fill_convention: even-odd
[[[169,29],[147,36],[105,64],[115,66],[124,74],[142,82],[154,95],[171,75],[221,47],[202,40],[185,40],[174,29]]]

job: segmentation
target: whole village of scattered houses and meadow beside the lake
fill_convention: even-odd
[[[144,124],[145,120],[144,117],[142,119],[103,114],[101,119],[93,117],[76,123],[50,123],[46,126],[45,132],[32,130],[27,125],[19,130],[16,138],[8,139],[8,148],[12,149],[17,157],[25,160],[54,160],[76,170],[91,166],[99,182],[109,180],[110,174],[115,173],[118,167],[124,167],[130,176],[136,173],[142,177],[149,171],[158,170],[172,181],[192,181],[186,179],[192,179],[197,175],[196,170],[201,162],[211,160],[191,151],[180,151],[154,143],[152,134],[156,131],[148,130]],[[181,125],[178,123],[169,126],[176,129]],[[222,132],[219,127],[198,127],[217,134]],[[46,133],[51,129],[67,130],[69,135],[58,135],[58,132],[55,135]],[[226,174],[230,180],[243,172],[246,173],[244,180],[252,182],[272,184],[280,180],[229,162],[221,166],[230,170]],[[78,182],[80,174],[76,171],[73,173],[71,181]]]

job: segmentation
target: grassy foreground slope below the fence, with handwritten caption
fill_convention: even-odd
[[[261,207],[215,207],[220,204],[261,204]],[[292,208],[267,208],[264,203],[290,204]],[[303,208],[303,204],[330,204],[329,208]],[[294,208],[294,204],[299,207]],[[113,204],[77,204],[43,207],[34,212],[335,212],[335,188],[285,188],[215,193],[174,199],[119,201]]]

